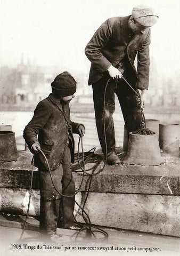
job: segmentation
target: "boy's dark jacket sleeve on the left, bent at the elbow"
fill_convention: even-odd
[[[43,129],[50,116],[51,111],[48,106],[42,101],[39,102],[34,111],[34,116],[23,131],[23,138],[29,148],[31,148],[32,144],[39,143],[37,134],[39,130]]]

